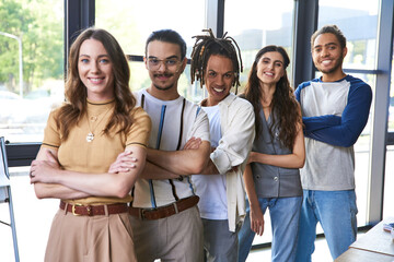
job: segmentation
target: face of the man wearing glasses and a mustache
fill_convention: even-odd
[[[152,81],[152,92],[176,91],[179,75],[186,67],[186,60],[181,60],[181,47],[177,44],[150,41],[144,63]]]

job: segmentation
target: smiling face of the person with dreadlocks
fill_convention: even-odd
[[[230,58],[212,55],[207,62],[205,85],[207,106],[216,106],[229,94],[234,84],[234,68]]]

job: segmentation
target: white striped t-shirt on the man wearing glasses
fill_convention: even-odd
[[[192,136],[209,141],[207,115],[199,107],[179,96],[174,100],[161,100],[146,90],[135,93],[137,105],[141,106],[152,120],[149,147],[162,151],[182,150]],[[181,128],[182,127],[182,128]],[[135,207],[157,207],[171,204],[176,198],[184,199],[195,193],[189,176],[183,180],[138,179],[134,191]]]

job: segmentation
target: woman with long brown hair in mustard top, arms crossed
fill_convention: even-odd
[[[144,166],[151,122],[135,107],[129,78],[108,32],[88,28],[72,44],[66,103],[49,115],[31,167],[37,198],[60,199],[45,261],[136,261],[127,203]],[[136,157],[134,167],[109,174],[125,150]]]

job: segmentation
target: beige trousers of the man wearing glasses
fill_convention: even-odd
[[[130,216],[138,261],[201,262],[202,223],[197,206],[157,221]]]

